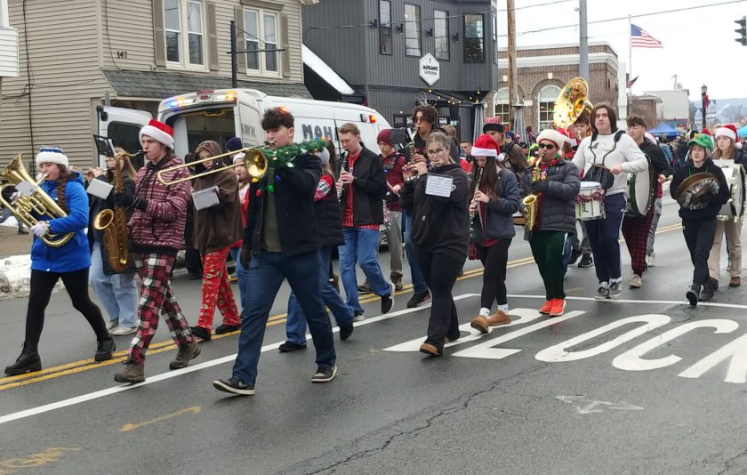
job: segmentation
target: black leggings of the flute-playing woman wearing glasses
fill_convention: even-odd
[[[431,254],[415,251],[421,265],[425,282],[433,295],[428,321],[428,338],[426,342],[438,348],[444,347],[444,338],[459,338],[459,319],[452,297],[452,289],[464,260],[460,261],[446,254]]]

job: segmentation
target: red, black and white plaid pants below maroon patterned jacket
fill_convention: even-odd
[[[133,253],[138,275],[142,279],[138,302],[138,331],[130,344],[130,358],[135,363],[145,361],[150,341],[158,328],[158,315],[163,313],[173,341],[180,347],[194,342],[187,318],[181,313],[179,303],[169,285],[169,272],[174,257],[166,254]]]

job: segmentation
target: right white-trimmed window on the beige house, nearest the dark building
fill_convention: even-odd
[[[276,12],[244,9],[244,43],[248,74],[280,75],[277,31]]]

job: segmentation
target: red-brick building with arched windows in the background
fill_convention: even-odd
[[[499,51],[498,88],[486,97],[486,116],[509,120],[509,90],[506,71],[509,60]],[[524,124],[535,131],[552,122],[555,100],[560,88],[579,76],[578,44],[553,44],[518,48],[518,103],[524,106]],[[589,87],[592,103],[609,101],[616,105],[620,85],[617,80],[617,53],[610,44],[589,44]],[[623,85],[624,87],[624,85]]]

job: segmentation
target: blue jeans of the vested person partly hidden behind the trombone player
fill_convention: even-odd
[[[329,307],[334,316],[334,321],[341,328],[353,325],[353,311],[348,304],[342,301],[340,294],[334,290],[329,282],[329,263],[332,262],[332,251],[334,246],[324,246],[319,249],[319,292],[322,301]],[[288,297],[288,318],[285,322],[285,334],[289,342],[299,345],[306,344],[306,316],[303,315],[301,304],[295,294],[291,292]]]

